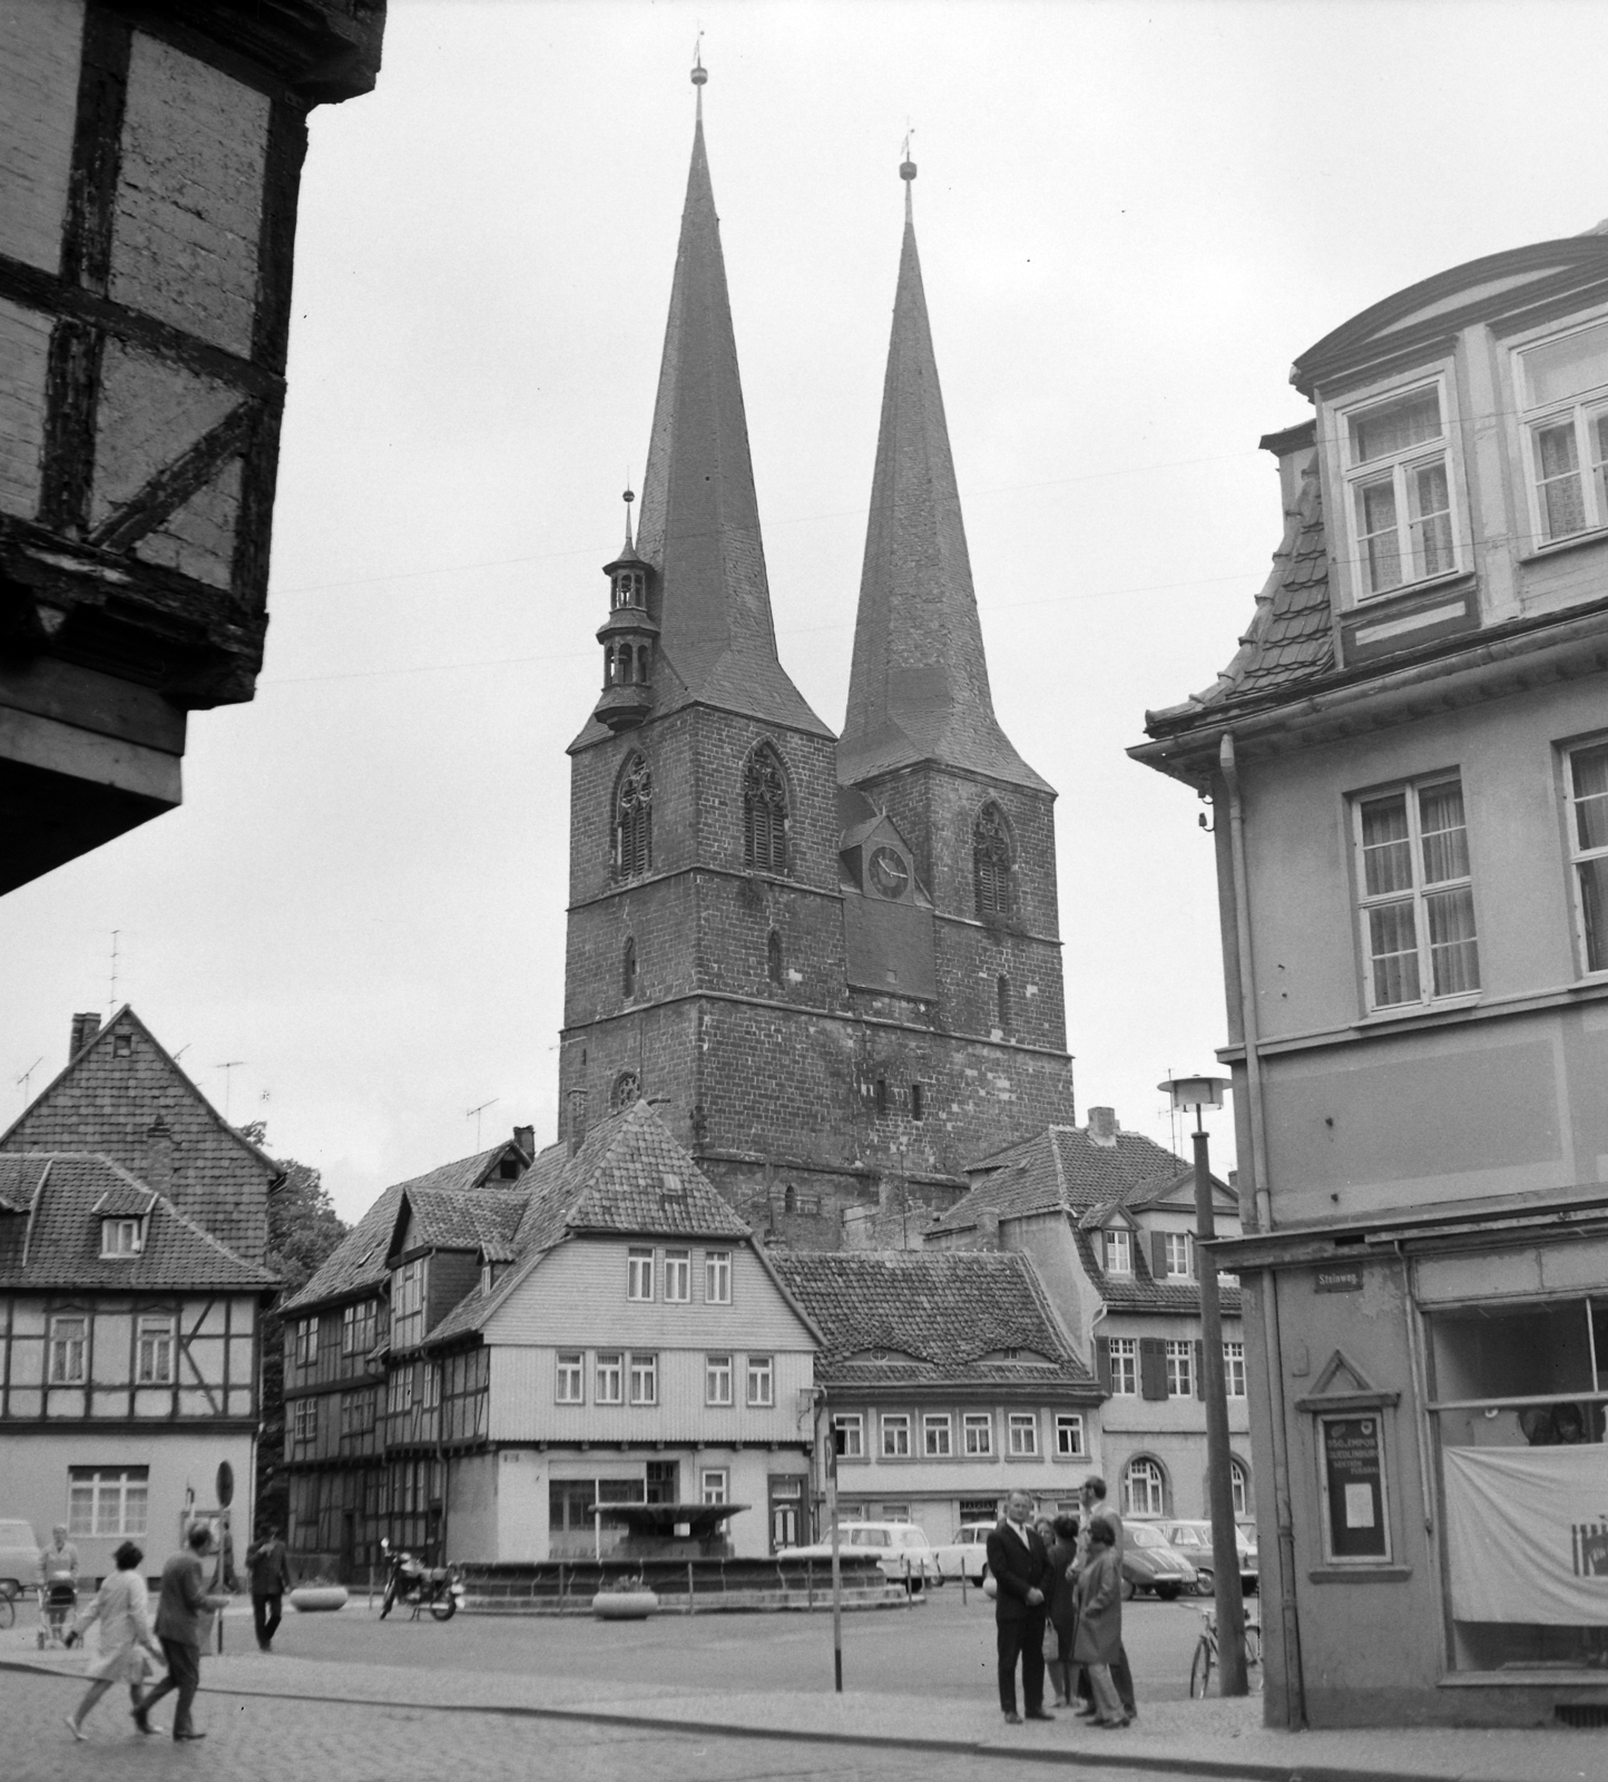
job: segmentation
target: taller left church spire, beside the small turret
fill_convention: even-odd
[[[736,367],[720,225],[704,153],[702,84],[670,321],[642,479],[636,549],[652,565],[660,624],[654,715],[722,706],[829,736],[775,656],[749,424]]]

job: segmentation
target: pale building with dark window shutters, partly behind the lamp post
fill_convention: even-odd
[[[1239,1201],[1212,1181],[1219,1235]],[[1207,1516],[1193,1167],[1111,1108],[1050,1126],[972,1169],[972,1192],[923,1233],[927,1249],[1030,1260],[1071,1345],[1091,1358],[1100,1467],[1128,1516]],[[980,1260],[980,1258],[977,1258]],[[1255,1515],[1239,1287],[1221,1279],[1234,1508]]]

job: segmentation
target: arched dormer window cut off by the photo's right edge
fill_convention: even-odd
[[[1608,323],[1519,355],[1542,544],[1608,526]]]

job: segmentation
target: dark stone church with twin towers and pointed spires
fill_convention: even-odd
[[[993,711],[900,171],[843,734],[775,650],[699,118],[640,526],[569,750],[560,1137],[645,1096],[811,1249],[916,1242],[968,1164],[1075,1117],[1055,795]]]

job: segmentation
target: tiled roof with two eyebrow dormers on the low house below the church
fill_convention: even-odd
[[[1027,1256],[1005,1251],[777,1251],[820,1326],[816,1377],[840,1386],[1059,1385],[1098,1394]],[[888,1353],[886,1361],[870,1351]],[[1005,1349],[1043,1360],[989,1360]]]

